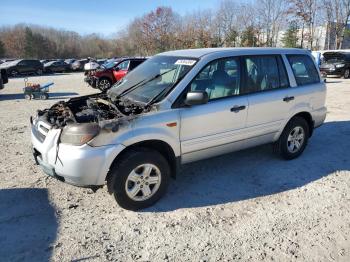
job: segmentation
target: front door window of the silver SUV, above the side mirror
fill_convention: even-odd
[[[239,58],[224,58],[209,63],[192,81],[190,91],[206,91],[209,100],[239,95]]]

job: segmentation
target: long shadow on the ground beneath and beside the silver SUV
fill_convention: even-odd
[[[199,161],[182,167],[166,196],[145,212],[204,207],[292,190],[337,170],[350,170],[350,121],[316,129],[297,159],[273,154],[271,145]]]

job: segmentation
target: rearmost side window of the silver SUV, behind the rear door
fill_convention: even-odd
[[[287,55],[298,86],[320,82],[317,69],[311,57],[307,55]]]

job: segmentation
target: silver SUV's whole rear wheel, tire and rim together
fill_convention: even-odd
[[[275,150],[287,160],[300,156],[309,139],[309,125],[302,117],[293,117],[275,143]]]

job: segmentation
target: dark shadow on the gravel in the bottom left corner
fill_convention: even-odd
[[[46,189],[0,190],[0,260],[49,261],[58,222]]]

